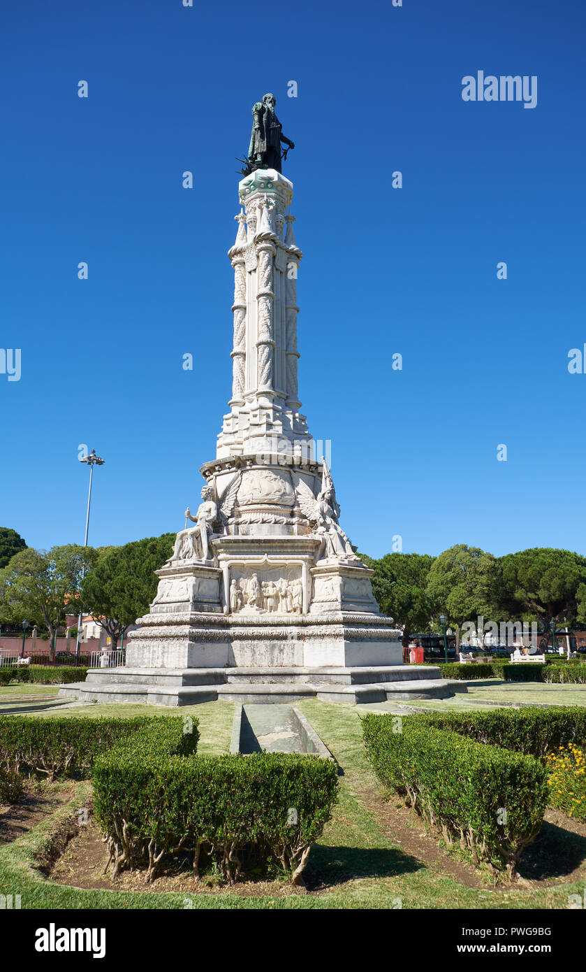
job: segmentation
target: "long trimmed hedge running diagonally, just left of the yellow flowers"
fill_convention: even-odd
[[[381,782],[438,827],[448,845],[514,876],[547,806],[546,771],[537,759],[475,743],[425,717],[404,718],[398,732],[393,716],[369,713],[362,726]]]

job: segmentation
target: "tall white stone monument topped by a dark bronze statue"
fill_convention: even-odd
[[[372,571],[342,529],[330,469],[301,413],[291,182],[273,95],[253,108],[234,268],[232,397],[204,463],[202,502],[156,573],[126,666],[62,695],[186,705],[215,698],[340,702],[449,694],[438,669],[403,666]],[[278,164],[277,164],[277,153]],[[266,161],[273,165],[265,165]],[[188,525],[190,521],[190,525]],[[191,525],[192,524],[192,525]]]

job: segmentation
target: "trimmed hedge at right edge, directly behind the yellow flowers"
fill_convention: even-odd
[[[537,759],[569,743],[586,744],[586,709],[579,706],[430,712],[408,718],[409,722],[457,732],[475,743],[502,746]]]

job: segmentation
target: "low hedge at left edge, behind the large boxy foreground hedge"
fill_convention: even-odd
[[[183,725],[183,720],[171,721]],[[193,721],[196,745],[197,722]],[[16,773],[88,777],[96,756],[130,735],[161,724],[158,716],[92,718],[0,715],[0,768]]]

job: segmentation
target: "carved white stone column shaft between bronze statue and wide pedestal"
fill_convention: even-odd
[[[234,267],[233,387],[217,455],[305,455],[311,436],[297,388],[297,270],[302,252],[293,186],[274,169],[257,169],[239,186],[244,212],[228,256]]]

